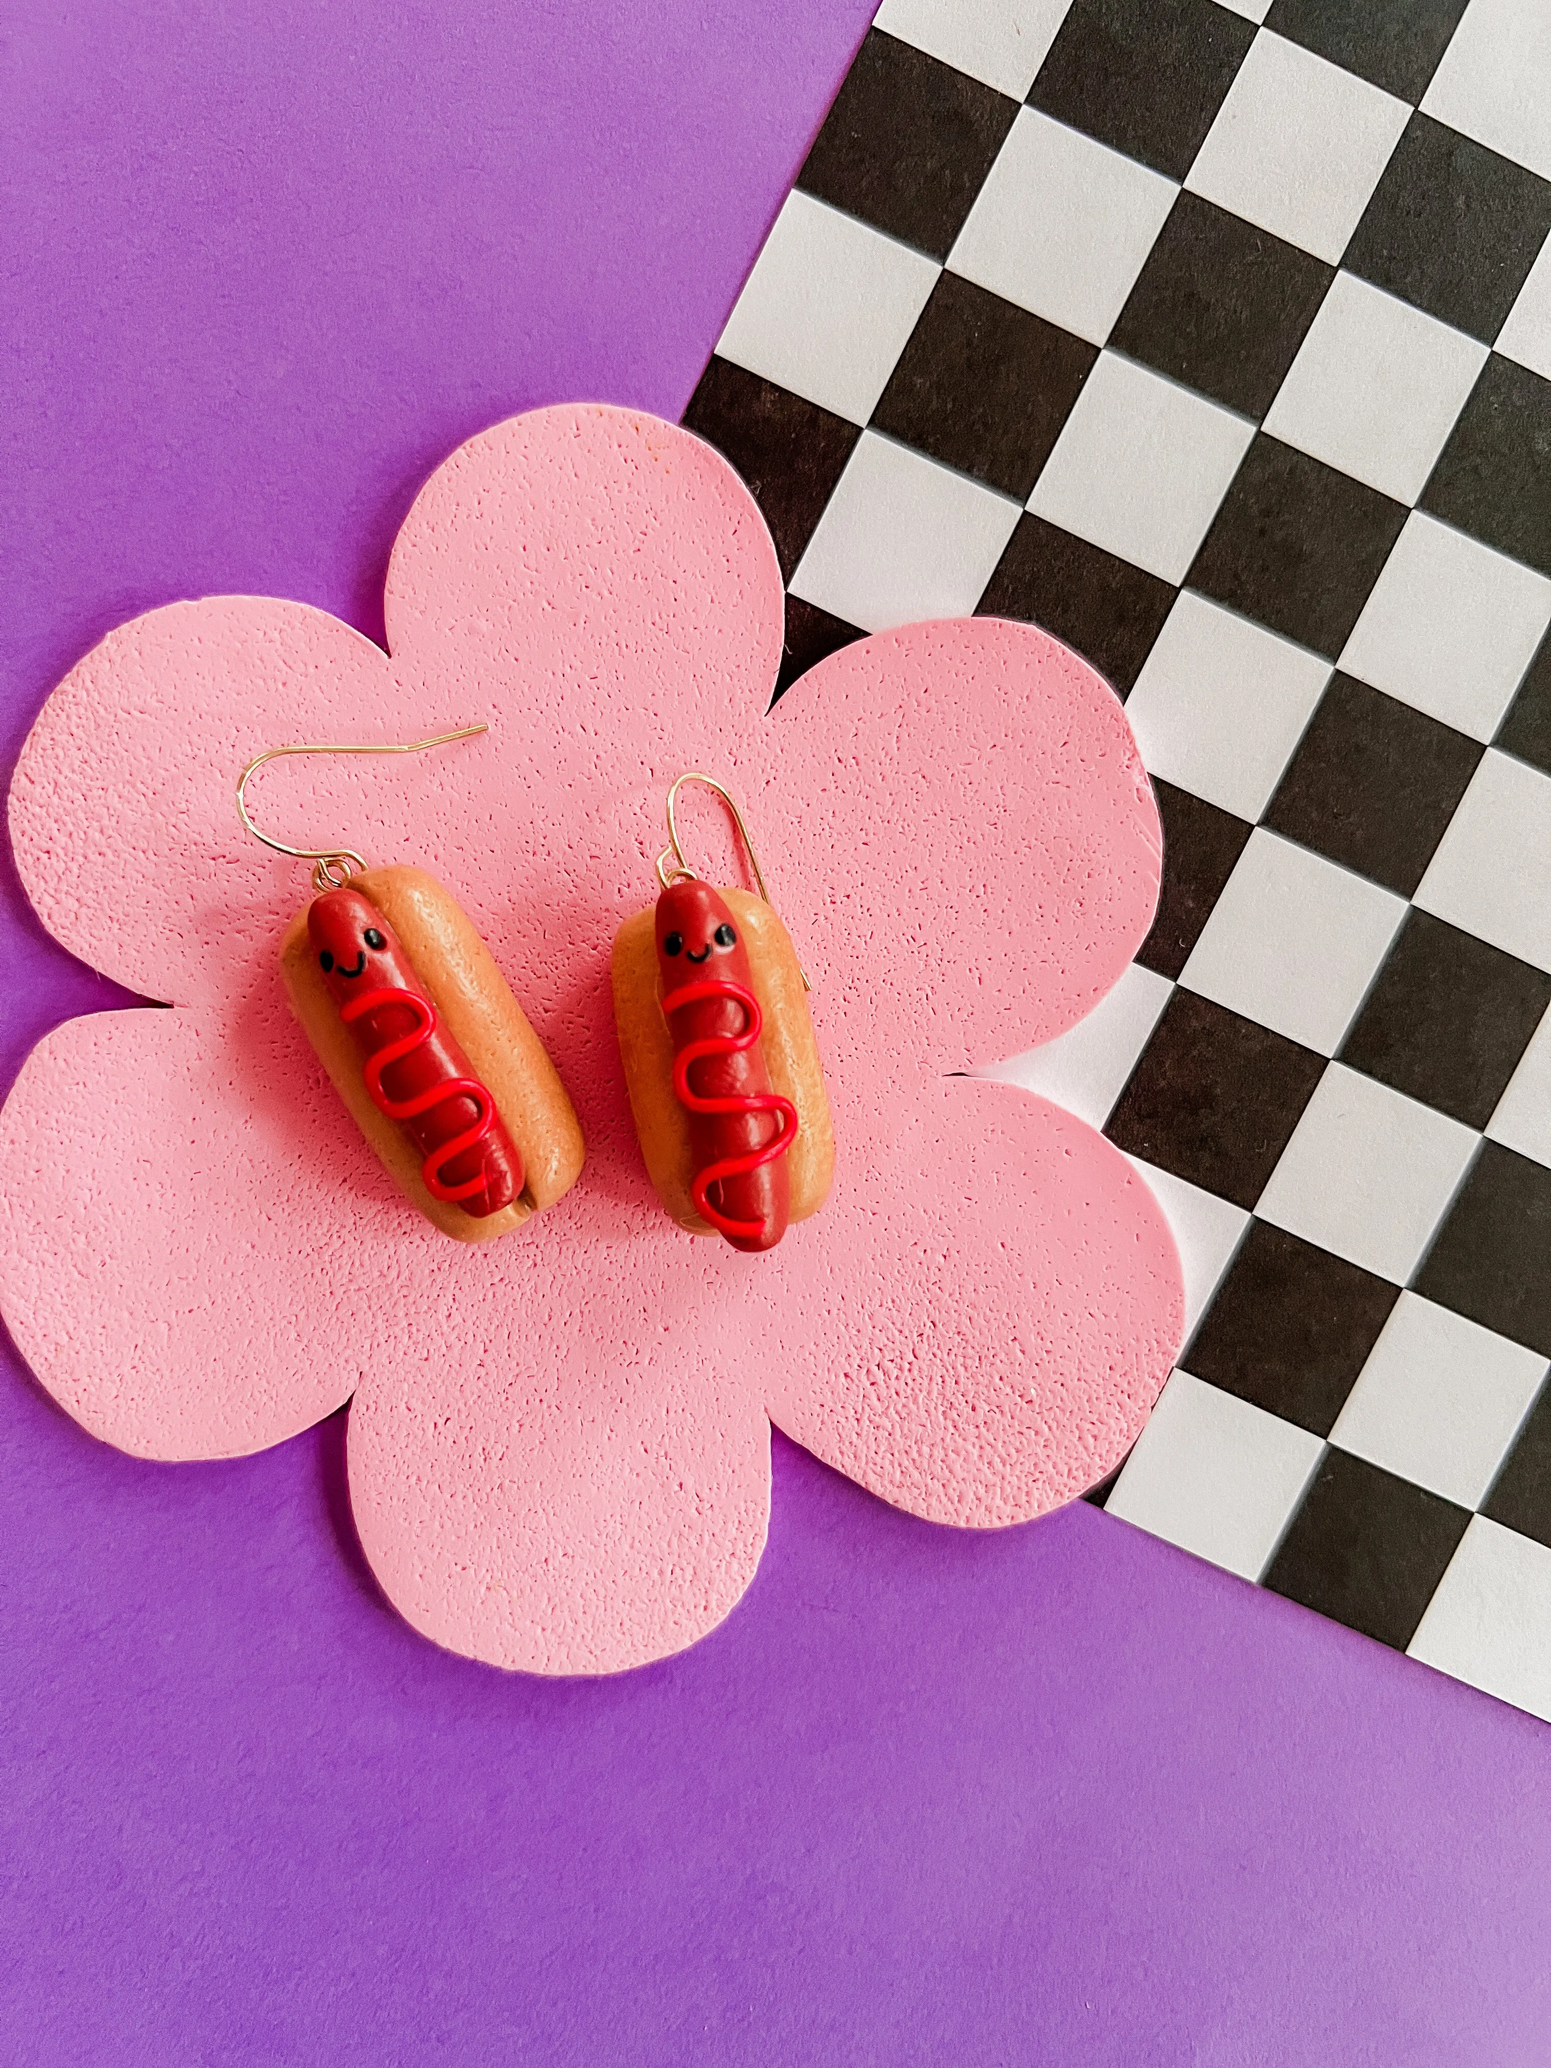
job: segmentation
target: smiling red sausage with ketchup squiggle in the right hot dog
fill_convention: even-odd
[[[658,970],[695,1206],[734,1249],[773,1249],[786,1235],[796,1106],[769,1088],[749,949],[709,883],[658,898]]]

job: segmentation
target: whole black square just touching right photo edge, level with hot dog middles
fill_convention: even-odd
[[[1481,1129],[1547,1007],[1551,976],[1410,910],[1340,1061]]]

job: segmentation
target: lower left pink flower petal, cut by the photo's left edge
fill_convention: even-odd
[[[105,1443],[265,1450],[403,1328],[399,1286],[358,1315],[339,1284],[341,1208],[354,1253],[391,1257],[403,1206],[302,1046],[269,997],[232,1042],[192,1013],[95,1013],[33,1048],[0,1113],[0,1301]]]

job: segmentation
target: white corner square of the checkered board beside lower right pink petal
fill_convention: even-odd
[[[1324,1448],[1307,1429],[1175,1371],[1104,1510],[1257,1580]]]

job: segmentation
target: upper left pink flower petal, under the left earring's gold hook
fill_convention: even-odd
[[[381,736],[414,736],[397,730],[416,716],[383,649],[306,604],[215,596],[116,627],[37,713],[10,786],[17,869],[37,916],[145,997],[242,997],[254,964],[273,960],[306,871],[242,831],[238,771],[285,740],[358,738],[385,705]],[[258,823],[294,846],[362,846],[374,815],[360,778],[292,765],[308,769],[312,802],[296,802],[300,786],[269,788],[265,771],[250,792]]]

